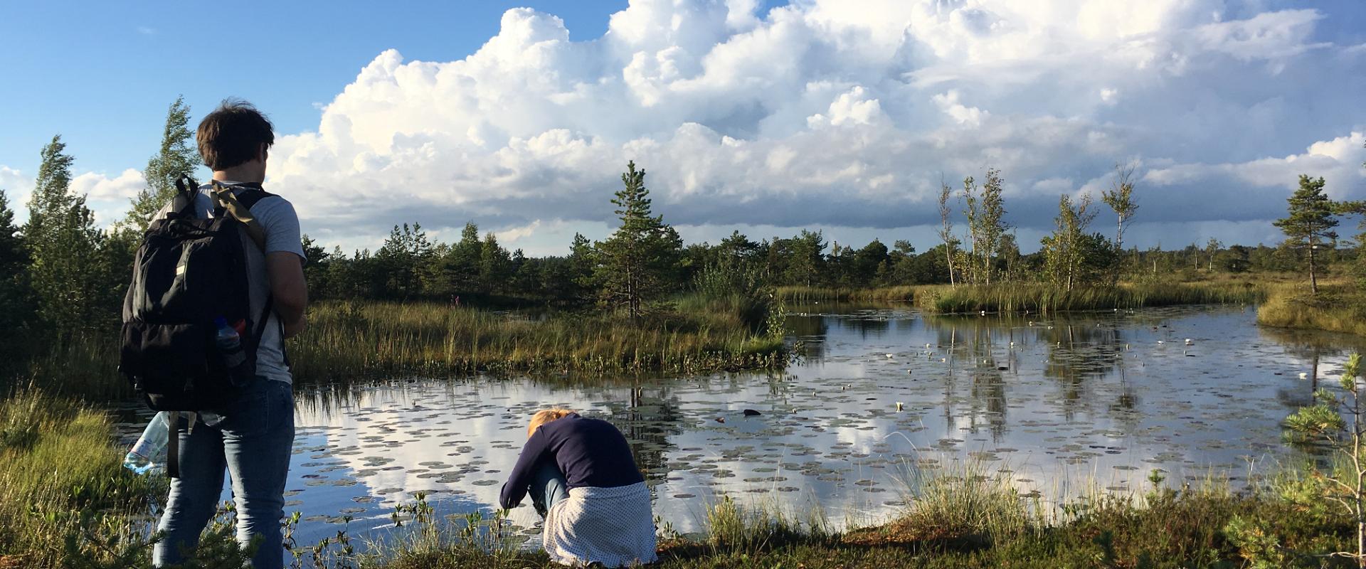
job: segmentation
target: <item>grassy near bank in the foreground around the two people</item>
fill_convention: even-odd
[[[157,479],[119,467],[109,418],[37,392],[0,404],[0,568],[149,568],[146,539]],[[1227,484],[1169,487],[1154,473],[1132,495],[1091,493],[1065,504],[1022,495],[1011,473],[949,463],[907,476],[897,516],[833,531],[820,514],[753,508],[728,498],[709,505],[703,532],[668,534],[658,568],[1235,568],[1355,566],[1328,557],[1350,550],[1354,525],[1294,472],[1233,493]],[[1265,480],[1265,479],[1264,479]],[[668,498],[661,498],[668,499]],[[347,550],[361,538],[301,543],[295,566],[553,568],[518,546],[501,517],[438,519],[419,502],[408,523]],[[318,553],[322,565],[310,555]],[[193,568],[238,568],[242,553],[221,519]]]

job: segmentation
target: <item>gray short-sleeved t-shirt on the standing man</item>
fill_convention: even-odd
[[[236,184],[236,181],[220,181],[225,186]],[[210,217],[213,214],[213,198],[209,195],[210,186],[205,184],[199,187],[199,195],[195,196],[194,210],[201,218]],[[242,190],[234,190],[234,194]],[[157,213],[157,218],[165,216],[169,211],[171,205],[167,205]],[[257,222],[261,224],[261,229],[265,231],[265,251],[262,252],[260,247],[246,235],[242,233],[242,248],[247,254],[247,280],[250,281],[250,296],[251,296],[251,314],[261,314],[265,310],[265,302],[270,296],[270,280],[265,272],[265,255],[270,252],[292,252],[299,255],[299,259],[307,261],[303,257],[303,239],[299,235],[299,216],[294,213],[294,205],[290,201],[272,195],[264,198],[251,206],[251,216],[255,217]],[[280,318],[270,311],[266,319],[265,330],[261,333],[261,344],[257,347],[257,375],[268,379],[283,381],[285,383],[292,383],[294,379],[290,375],[290,366],[284,363],[284,336],[281,334],[283,327],[280,326]]]

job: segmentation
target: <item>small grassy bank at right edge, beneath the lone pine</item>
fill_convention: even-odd
[[[1305,285],[1277,285],[1257,307],[1257,323],[1366,336],[1366,293],[1346,281],[1320,285],[1318,295]]]

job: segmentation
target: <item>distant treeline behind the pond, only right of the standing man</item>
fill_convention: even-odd
[[[1101,201],[1119,224],[1113,237],[1090,229],[1097,207],[1089,195],[1059,199],[1055,232],[1037,252],[1022,254],[1014,228],[1005,224],[999,171],[985,181],[973,177],[959,191],[943,184],[941,242],[917,251],[907,240],[888,247],[878,239],[852,247],[829,243],[820,231],[800,231],[791,237],[754,240],[739,231],[720,243],[683,246],[678,233],[652,217],[643,171],[630,164],[623,175],[626,190],[613,203],[620,207],[622,228],[612,239],[593,243],[575,235],[564,257],[526,257],[508,251],[493,233],[479,233],[473,221],[456,243],[433,242],[418,224],[395,225],[376,250],[346,254],[326,251],[306,237],[310,265],[305,269],[316,297],[456,300],[505,296],[561,303],[630,306],[660,299],[671,292],[701,291],[712,295],[753,293],[765,287],[869,288],[917,284],[1050,282],[1071,291],[1076,287],[1113,285],[1120,280],[1198,280],[1217,274],[1288,273],[1302,270],[1307,258],[1300,240],[1277,247],[1224,246],[1216,239],[1180,250],[1123,248],[1123,236],[1138,210],[1130,169],[1116,172],[1115,184]],[[635,181],[631,181],[635,180]],[[637,184],[638,190],[631,190]],[[955,205],[962,217],[955,217]],[[966,235],[955,228],[966,227]],[[635,251],[624,259],[620,251]],[[1315,242],[1318,269],[1356,258],[1351,248]],[[641,282],[615,282],[634,274]],[[615,300],[613,300],[615,299]],[[639,306],[635,308],[639,310]]]

